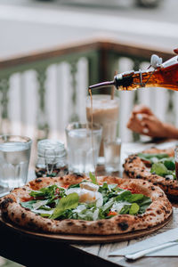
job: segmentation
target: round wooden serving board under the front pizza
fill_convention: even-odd
[[[8,222],[0,216],[0,223],[5,224],[6,227],[10,228],[12,231],[19,232],[23,235],[28,235],[31,238],[38,239],[48,239],[52,241],[65,242],[70,244],[97,244],[97,243],[113,243],[119,241],[125,241],[130,239],[141,238],[146,235],[150,235],[154,231],[158,231],[160,228],[164,227],[167,223],[172,220],[173,214],[169,216],[169,218],[164,223],[159,223],[157,226],[154,226],[150,229],[142,230],[142,231],[134,231],[123,234],[116,235],[79,235],[79,234],[53,234],[53,233],[45,233],[45,232],[37,232],[37,231],[29,231],[27,229],[21,228],[18,225],[13,224],[12,222]]]

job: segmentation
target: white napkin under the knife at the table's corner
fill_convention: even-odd
[[[160,233],[156,235],[155,237],[143,240],[141,242],[137,242],[134,245],[121,248],[121,249],[117,249],[109,253],[109,256],[126,255],[130,253],[135,253],[139,250],[150,248],[150,247],[155,247],[163,243],[173,241],[175,239],[178,239],[178,228]],[[178,256],[178,244],[172,247],[166,247],[164,249],[152,252],[146,256]]]

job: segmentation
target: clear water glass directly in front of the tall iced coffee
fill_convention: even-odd
[[[71,123],[66,127],[69,172],[94,172],[101,144],[101,125]]]

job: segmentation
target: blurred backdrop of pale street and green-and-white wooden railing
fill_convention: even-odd
[[[0,0],[0,133],[65,141],[69,121],[85,121],[88,85],[174,56],[177,10],[176,0]],[[116,94],[123,142],[140,138],[125,127],[135,103],[178,125],[176,92]]]

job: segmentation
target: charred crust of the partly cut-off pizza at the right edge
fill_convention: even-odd
[[[150,150],[142,151],[142,153],[166,153],[170,157],[174,157],[174,148],[167,150],[158,150],[157,148],[151,148]],[[159,176],[157,174],[151,174],[150,170],[145,166],[143,160],[136,154],[126,158],[125,164],[123,166],[125,169],[124,177],[143,179],[148,182],[152,182],[154,185],[158,185],[158,187],[164,190],[168,197],[178,199],[178,182],[170,178]]]

